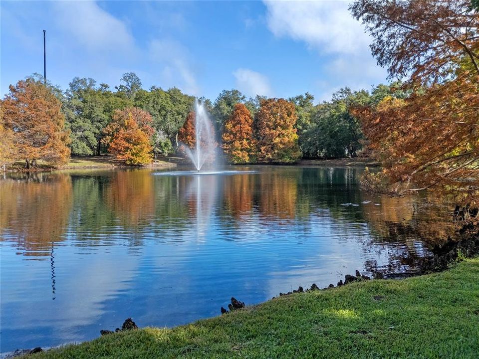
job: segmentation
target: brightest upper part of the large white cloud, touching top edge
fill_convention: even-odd
[[[348,10],[347,1],[264,1],[271,32],[306,41],[326,53],[368,50],[369,35]]]

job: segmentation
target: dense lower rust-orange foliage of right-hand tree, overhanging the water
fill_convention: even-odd
[[[479,76],[458,77],[406,100],[353,110],[392,183],[466,195],[479,191]],[[416,188],[418,189],[418,188]]]

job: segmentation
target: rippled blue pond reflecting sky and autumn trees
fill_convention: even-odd
[[[0,351],[90,340],[128,317],[186,324],[232,296],[260,303],[356,269],[413,271],[437,237],[418,225],[421,199],[363,193],[360,168],[228,169],[244,173],[1,179]]]

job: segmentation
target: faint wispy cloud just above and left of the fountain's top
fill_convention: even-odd
[[[184,92],[199,96],[200,88],[189,62],[188,50],[180,43],[171,40],[156,39],[150,42],[151,60],[163,66],[162,80],[171,86],[177,86]],[[182,84],[178,83],[181,79]]]

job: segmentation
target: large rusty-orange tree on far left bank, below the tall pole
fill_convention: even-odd
[[[25,167],[36,166],[37,160],[59,166],[70,157],[69,131],[64,130],[65,117],[61,103],[49,88],[32,78],[10,85],[10,93],[1,101],[3,130],[11,136],[17,158]]]

